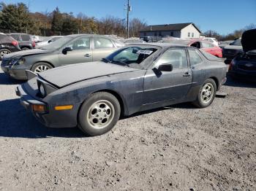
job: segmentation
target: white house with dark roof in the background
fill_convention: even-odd
[[[173,36],[177,38],[200,38],[201,31],[194,23],[177,23],[157,26],[146,26],[140,31],[143,36]]]

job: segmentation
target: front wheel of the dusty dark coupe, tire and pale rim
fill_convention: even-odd
[[[99,104],[99,107],[97,107],[98,109],[96,109],[97,112],[95,113],[94,106],[97,104]],[[104,104],[105,107],[101,107]],[[107,110],[109,108],[110,113],[108,111],[104,112],[104,108]],[[114,127],[114,125],[116,125],[116,122],[119,120],[120,113],[120,104],[114,95],[107,92],[93,93],[89,95],[89,98],[84,101],[80,108],[80,112],[78,114],[78,127],[83,131],[83,133],[86,133],[89,136],[100,136],[107,133]],[[109,117],[110,119],[106,120],[107,118],[104,117]],[[104,120],[105,122],[103,123]],[[97,127],[97,125],[99,126]]]

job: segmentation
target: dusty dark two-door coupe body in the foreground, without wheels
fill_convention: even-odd
[[[168,51],[174,55],[184,53],[183,61],[174,59],[171,71],[161,70],[168,65],[165,56]],[[136,57],[134,61],[137,63],[128,62],[133,58],[126,58],[127,52]],[[198,60],[189,52],[197,54]],[[66,72],[68,75],[61,75]],[[222,59],[195,47],[164,43],[129,44],[99,62],[79,63],[39,73],[38,77],[20,85],[16,93],[20,95],[21,104],[46,126],[75,127],[79,125],[81,105],[94,93],[106,92],[115,96],[121,114],[128,116],[147,109],[195,101],[206,79],[214,80],[219,90],[226,80],[226,66]],[[44,89],[44,96],[41,89]],[[45,111],[35,112],[33,105],[42,105]],[[56,106],[67,105],[72,105],[72,109],[56,110]]]

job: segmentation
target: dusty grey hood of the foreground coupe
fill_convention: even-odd
[[[50,82],[53,85],[64,87],[86,79],[93,79],[135,70],[138,69],[100,61],[91,63],[75,63],[67,66],[61,66],[56,69],[50,69],[40,73],[39,77],[45,79],[47,82]]]

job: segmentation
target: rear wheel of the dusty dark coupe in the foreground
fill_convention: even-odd
[[[211,90],[211,95],[209,95],[210,98],[208,98],[208,93],[206,93],[207,88],[205,90],[204,87],[208,87],[208,91],[213,89]],[[200,87],[200,90],[197,94],[197,99],[194,102],[192,102],[192,104],[199,108],[204,108],[206,106],[211,105],[212,101],[214,101],[216,90],[217,86],[214,79],[206,79],[206,81],[203,82],[203,85]]]

